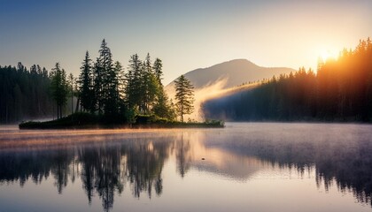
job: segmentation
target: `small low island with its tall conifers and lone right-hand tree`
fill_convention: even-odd
[[[224,127],[216,120],[197,122],[189,118],[184,122],[184,116],[194,111],[194,87],[181,75],[174,81],[175,102],[169,100],[161,82],[163,64],[159,58],[152,63],[150,54],[143,61],[135,54],[124,72],[120,62],[112,61],[105,40],[98,52],[95,63],[86,52],[78,79],[73,74],[67,79],[65,70],[56,63],[49,80],[57,119],[23,122],[19,129]],[[64,117],[68,96],[72,98],[72,114]]]

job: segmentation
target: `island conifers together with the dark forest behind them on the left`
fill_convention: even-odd
[[[180,116],[183,122],[183,115],[192,113],[190,80],[183,76],[177,79],[178,95],[175,102],[169,100],[161,82],[163,64],[159,58],[152,63],[150,54],[144,60],[132,55],[124,71],[119,61],[112,60],[105,39],[98,53],[93,62],[86,52],[77,78],[72,73],[67,77],[59,63],[50,72],[36,64],[30,70],[21,63],[17,67],[0,66],[0,123],[54,117],[59,120],[77,112],[110,124],[135,123],[139,115],[163,121]]]

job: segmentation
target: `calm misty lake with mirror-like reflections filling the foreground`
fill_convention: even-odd
[[[0,127],[0,211],[372,211],[372,125]]]

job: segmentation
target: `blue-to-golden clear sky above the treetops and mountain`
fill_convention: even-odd
[[[316,67],[372,37],[371,0],[0,0],[0,64],[75,76],[85,51],[96,58],[105,38],[114,60],[131,55],[164,63],[165,84],[180,74],[231,59],[261,66]]]

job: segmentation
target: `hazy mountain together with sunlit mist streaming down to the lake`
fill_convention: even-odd
[[[245,84],[247,82],[271,79],[280,74],[296,72],[291,68],[266,68],[246,59],[236,59],[221,64],[215,64],[208,68],[200,68],[187,72],[184,76],[189,79],[195,87],[194,113],[186,118],[203,120],[205,117],[203,109],[200,107],[205,101],[222,96],[235,96],[244,91],[256,87],[258,83]],[[174,99],[174,81],[167,85],[167,95]]]

